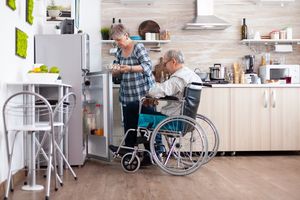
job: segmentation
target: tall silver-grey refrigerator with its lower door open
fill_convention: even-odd
[[[89,79],[89,36],[87,34],[35,35],[34,61],[60,69],[62,83],[72,86],[76,94],[76,108],[69,122],[68,132],[64,138],[64,151],[71,165],[83,165],[86,158],[95,155],[97,158],[110,160],[108,146],[112,131],[112,84],[111,74],[92,74],[91,86],[84,83]],[[93,89],[94,88],[94,89]],[[91,90],[92,92],[87,90]],[[86,99],[86,93],[91,94]],[[111,98],[111,99],[110,99]],[[96,105],[102,105],[100,118],[103,133],[97,137],[86,127],[83,112],[87,106],[95,112]],[[85,127],[84,127],[85,125]]]

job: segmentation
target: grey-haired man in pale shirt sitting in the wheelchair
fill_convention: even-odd
[[[191,69],[184,67],[183,54],[179,50],[169,50],[164,55],[164,63],[170,78],[163,83],[156,83],[149,90],[148,95],[155,98],[175,96],[182,98],[184,88],[191,82],[202,82],[200,77]],[[161,113],[168,116],[180,114],[180,103],[172,102],[164,106]]]

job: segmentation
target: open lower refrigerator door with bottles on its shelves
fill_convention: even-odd
[[[88,141],[86,154],[88,158],[110,160],[108,146],[112,143],[113,129],[111,74],[89,73],[87,79],[90,85],[86,86],[83,92],[83,110],[87,125],[84,132]]]

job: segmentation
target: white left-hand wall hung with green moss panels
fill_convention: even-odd
[[[42,0],[36,0],[38,4]],[[38,17],[34,19],[34,24],[26,22],[25,11],[26,1],[16,0],[17,9],[11,10],[6,6],[6,1],[0,1],[0,20],[1,20],[1,37],[0,37],[0,182],[7,177],[7,160],[6,146],[4,143],[2,107],[5,99],[9,94],[14,92],[13,88],[7,88],[6,82],[19,81],[33,64],[33,35],[38,31]],[[36,13],[36,10],[34,11]],[[15,55],[15,27],[18,27],[28,35],[27,58],[23,59]],[[18,140],[16,151],[22,151],[22,140]],[[23,167],[22,158],[14,160],[13,169]]]

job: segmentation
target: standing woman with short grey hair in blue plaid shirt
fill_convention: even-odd
[[[152,63],[141,43],[134,43],[122,24],[112,27],[111,37],[118,45],[113,76],[121,75],[119,100],[122,103],[124,130],[136,129],[138,123],[139,100],[144,97],[154,84]],[[150,109],[150,108],[144,108]],[[125,145],[133,147],[136,144],[136,132],[130,132]]]

